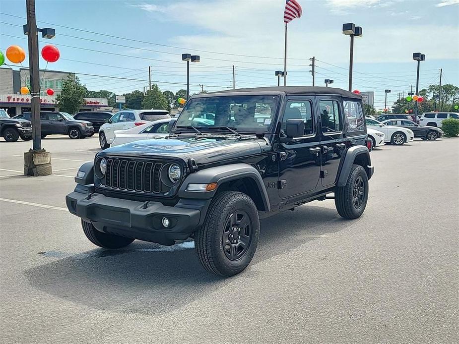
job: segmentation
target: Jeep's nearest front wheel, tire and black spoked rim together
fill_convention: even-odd
[[[195,246],[202,266],[229,277],[252,261],[260,235],[260,218],[254,201],[245,193],[225,191],[212,201]]]

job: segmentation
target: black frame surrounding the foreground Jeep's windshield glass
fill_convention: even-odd
[[[202,125],[198,125],[198,124],[192,124],[192,123],[181,123],[179,122],[180,120],[180,117],[182,115],[185,115],[186,111],[187,111],[187,107],[189,104],[191,104],[190,102],[187,102],[184,106],[184,108],[182,109],[180,115],[177,118],[177,120],[174,122],[174,126],[171,128],[171,133],[173,132],[182,132],[184,131],[183,128],[177,128],[177,126],[190,126],[190,125],[193,125],[194,127],[196,127],[197,129],[199,129],[203,134],[215,134],[215,133],[218,133],[218,134],[230,134],[230,135],[234,135],[233,133],[230,133],[227,129],[224,129],[222,127],[225,127],[225,126],[228,126],[228,127],[231,127],[233,128],[234,130],[236,130],[238,132],[238,134],[248,134],[248,135],[257,135],[257,134],[263,134],[263,135],[266,135],[266,134],[273,134],[275,132],[275,128],[277,126],[277,120],[278,120],[278,116],[279,116],[279,109],[281,108],[282,104],[283,104],[283,97],[285,94],[283,92],[218,92],[218,93],[205,93],[205,94],[199,94],[199,95],[195,95],[193,97],[190,98],[190,101],[191,100],[197,100],[197,99],[200,99],[200,98],[221,98],[221,97],[229,97],[229,98],[234,98],[234,97],[241,97],[241,96],[251,96],[251,97],[270,97],[270,96],[275,96],[277,97],[277,104],[276,104],[276,107],[275,109],[273,110],[274,113],[273,115],[270,116],[271,118],[271,123],[269,125],[269,127],[266,129],[266,130],[255,130],[255,128],[253,128],[253,130],[243,130],[243,129],[247,129],[247,127],[237,127],[237,126],[233,126],[233,125],[229,125],[229,124],[226,124],[226,125],[215,125],[215,124],[212,124],[212,125],[209,125],[209,124],[202,124]],[[203,130],[201,130],[203,129]],[[185,129],[187,134],[188,133],[195,133],[197,134],[193,129]],[[207,131],[208,130],[208,131]]]

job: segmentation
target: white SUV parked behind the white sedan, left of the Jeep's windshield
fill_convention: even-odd
[[[167,110],[123,110],[108,119],[99,129],[100,148],[110,147],[115,130],[126,130],[153,120],[171,118]]]

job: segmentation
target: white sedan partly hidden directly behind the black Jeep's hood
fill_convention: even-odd
[[[118,146],[125,143],[150,139],[163,138],[169,135],[168,125],[170,118],[159,119],[142,125],[135,126],[128,130],[115,130],[115,137],[111,146]]]

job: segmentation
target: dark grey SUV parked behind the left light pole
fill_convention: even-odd
[[[31,113],[25,112],[24,119],[31,120]],[[78,120],[66,113],[40,111],[41,135],[64,134],[71,139],[80,139],[94,134],[91,122]]]

